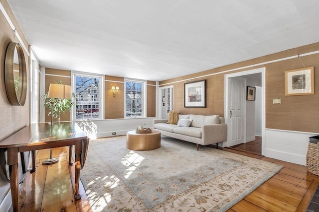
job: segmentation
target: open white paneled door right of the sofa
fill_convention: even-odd
[[[233,146],[245,142],[245,78],[229,78],[228,89],[228,138]]]

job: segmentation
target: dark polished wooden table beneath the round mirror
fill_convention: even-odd
[[[35,171],[35,150],[69,146],[69,164],[72,159],[72,145],[75,145],[74,198],[79,194],[80,170],[83,168],[89,139],[74,122],[38,123],[24,127],[0,142],[0,148],[7,148],[7,163],[10,170],[10,188],[13,212],[19,211],[18,199],[18,152],[32,152],[32,170]],[[71,163],[72,164],[72,163]]]

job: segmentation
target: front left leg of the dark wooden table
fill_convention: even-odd
[[[18,176],[18,148],[8,148],[8,165],[10,172],[10,188],[13,212],[19,211],[19,176]]]

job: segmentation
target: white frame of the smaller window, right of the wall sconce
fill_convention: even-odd
[[[142,116],[126,116],[126,83],[127,81],[130,82],[137,82],[137,83],[142,83]],[[147,80],[143,79],[134,79],[134,78],[124,78],[124,119],[141,119],[141,118],[146,118],[147,116]]]

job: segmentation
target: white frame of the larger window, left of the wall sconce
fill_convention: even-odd
[[[91,78],[99,78],[100,82],[100,87],[99,87],[99,95],[98,98],[100,99],[99,101],[99,118],[98,119],[89,119],[89,120],[103,120],[104,119],[104,75],[102,74],[95,74],[95,73],[88,73],[88,72],[80,72],[80,71],[71,71],[71,87],[72,87],[72,92],[76,94],[76,76],[81,76],[81,77],[91,77]],[[82,99],[82,97],[80,97]],[[94,98],[95,99],[95,98]],[[74,99],[76,101],[76,98]],[[83,107],[84,109],[84,107]],[[77,119],[76,118],[76,102],[74,102],[74,106],[71,111],[71,121],[79,121],[82,119]]]

